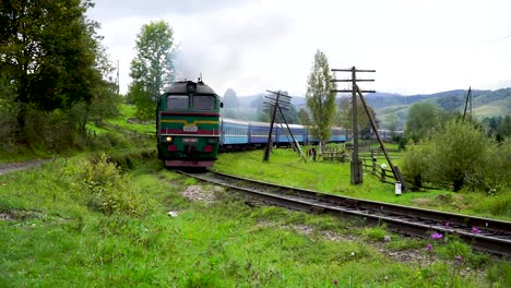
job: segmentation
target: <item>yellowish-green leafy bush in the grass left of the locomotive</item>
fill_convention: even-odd
[[[121,172],[108,156],[102,154],[81,163],[80,169],[71,171],[75,187],[84,193],[87,206],[107,215],[142,215],[142,202],[131,189],[128,175]]]

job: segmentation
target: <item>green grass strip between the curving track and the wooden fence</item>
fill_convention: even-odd
[[[273,149],[270,163],[263,163],[262,157],[263,151],[224,153],[215,163],[214,169],[345,196],[511,220],[511,191],[487,196],[476,192],[431,190],[405,192],[395,196],[394,185],[380,182],[369,171],[364,171],[361,184],[350,184],[349,163],[304,163],[296,153],[286,148]],[[387,161],[379,157],[378,163]],[[399,164],[397,158],[394,165]]]

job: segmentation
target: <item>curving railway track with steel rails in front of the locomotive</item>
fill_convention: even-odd
[[[282,187],[219,172],[192,173],[188,177],[207,181],[270,203],[313,213],[356,215],[372,223],[385,223],[404,235],[431,237],[454,235],[474,249],[511,256],[511,223],[462,214],[408,207],[383,202],[332,195],[312,190]]]

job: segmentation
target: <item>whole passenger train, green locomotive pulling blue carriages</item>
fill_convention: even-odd
[[[270,123],[221,118],[221,97],[202,81],[176,82],[157,101],[157,153],[166,167],[212,167],[218,152],[265,146]],[[289,124],[301,145],[318,144],[309,127]],[[389,134],[389,133],[387,133]],[[343,143],[348,133],[332,127],[329,142]],[[293,139],[284,123],[274,123],[272,143],[289,146]]]

